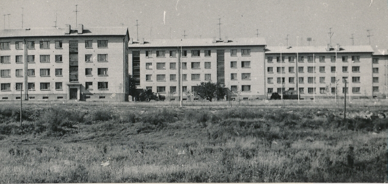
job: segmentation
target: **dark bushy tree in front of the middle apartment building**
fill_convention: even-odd
[[[211,83],[210,81],[207,83],[201,82],[200,85],[197,85],[197,90],[194,92],[195,95],[198,95],[202,99],[213,100],[216,98],[217,100],[224,99],[226,95],[226,90],[218,83]]]

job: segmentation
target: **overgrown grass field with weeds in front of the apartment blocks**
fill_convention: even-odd
[[[388,182],[385,100],[2,104],[0,183]]]

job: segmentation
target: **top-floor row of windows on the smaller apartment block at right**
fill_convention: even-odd
[[[305,56],[298,56],[298,62],[299,63],[303,63],[305,62]],[[319,62],[325,62],[325,56],[318,56],[319,58]],[[358,55],[355,55],[355,56],[351,56],[352,58],[352,62],[360,62],[360,56]],[[288,62],[290,63],[293,63],[295,62],[295,59],[296,59],[296,56],[289,56],[288,57]],[[284,63],[284,60],[285,60],[285,57],[282,56],[276,56],[276,62],[277,63]],[[315,62],[316,58],[314,58],[313,56],[307,56],[307,62]],[[336,56],[330,56],[330,61],[331,62],[336,62],[337,58]],[[267,57],[267,62],[268,63],[273,63],[274,62],[274,56],[268,56]],[[348,56],[342,56],[342,62],[348,62]]]

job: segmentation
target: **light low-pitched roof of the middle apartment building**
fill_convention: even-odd
[[[214,38],[186,38],[186,39],[152,39],[145,40],[140,44],[139,40],[129,44],[129,48],[150,48],[150,47],[217,47],[217,46],[265,46],[265,39],[262,37],[252,38],[228,38],[227,41]]]

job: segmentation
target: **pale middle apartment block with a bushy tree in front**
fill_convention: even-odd
[[[264,38],[155,39],[129,41],[129,71],[138,88],[178,100],[194,100],[201,82],[230,89],[233,98],[264,98]],[[181,66],[179,63],[181,62]]]

